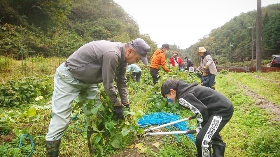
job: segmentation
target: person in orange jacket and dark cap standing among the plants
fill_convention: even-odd
[[[161,49],[155,50],[153,56],[151,57],[150,63],[150,74],[153,78],[153,83],[156,84],[158,79],[160,77],[157,77],[158,69],[160,66],[164,69],[165,72],[169,72],[169,69],[166,65],[166,59],[165,59],[165,52],[167,50],[171,50],[169,48],[169,44],[163,44]]]

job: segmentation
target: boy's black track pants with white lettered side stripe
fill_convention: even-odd
[[[206,122],[202,122],[202,129],[197,134],[195,144],[197,148],[198,157],[210,157],[211,146],[210,141],[223,142],[219,132],[223,129],[225,124],[230,120],[230,116],[211,115]]]

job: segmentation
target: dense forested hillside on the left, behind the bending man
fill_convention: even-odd
[[[0,52],[4,56],[20,58],[22,51],[23,58],[57,56],[57,51],[69,56],[93,40],[125,43],[143,38],[152,51],[157,48],[113,0],[0,0],[0,7]]]

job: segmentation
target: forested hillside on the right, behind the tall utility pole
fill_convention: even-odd
[[[256,27],[248,27],[252,27],[252,23],[256,26],[256,13],[256,10],[241,13],[223,26],[213,29],[184,52],[191,53],[193,59],[197,60],[195,52],[198,47],[204,46],[211,51],[214,57],[218,58],[219,63],[224,63],[226,57],[227,60],[231,58],[232,62],[250,60],[252,43],[254,43],[256,55]],[[231,52],[230,43],[233,45]],[[271,59],[271,55],[275,54],[280,54],[280,3],[262,7],[262,59]]]

